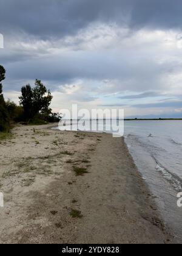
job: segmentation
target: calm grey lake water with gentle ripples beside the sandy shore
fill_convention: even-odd
[[[102,127],[103,121],[92,122]],[[67,124],[61,129],[68,129]],[[89,127],[86,121],[85,130]],[[124,121],[124,137],[164,221],[181,242],[182,208],[177,206],[177,194],[182,192],[182,121]]]

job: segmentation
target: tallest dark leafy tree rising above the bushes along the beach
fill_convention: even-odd
[[[26,85],[21,88],[20,104],[24,108],[26,121],[33,120],[39,115],[49,115],[51,109],[49,105],[52,101],[52,94],[49,90],[42,84],[41,80],[35,80],[35,87]]]

